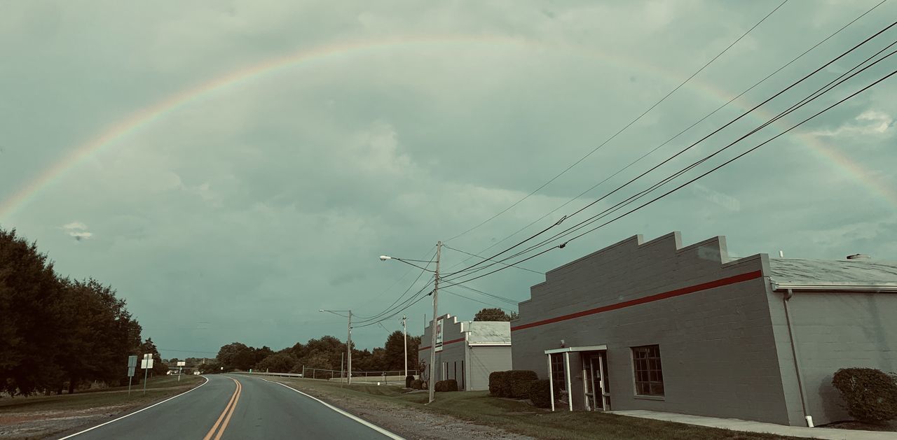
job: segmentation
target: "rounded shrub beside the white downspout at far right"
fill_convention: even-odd
[[[841,368],[832,377],[847,413],[867,423],[897,418],[897,381],[875,368]]]

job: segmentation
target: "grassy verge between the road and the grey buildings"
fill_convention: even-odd
[[[499,427],[509,432],[546,439],[780,439],[797,438],[745,433],[682,423],[631,418],[587,411],[539,410],[525,401],[490,397],[487,392],[439,393],[436,401],[424,405],[427,393],[405,393],[397,386],[334,384],[312,379],[275,378],[307,393],[352,396],[356,399],[390,401],[399,406],[447,414],[478,425]]]

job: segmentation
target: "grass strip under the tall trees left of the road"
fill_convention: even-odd
[[[167,375],[147,381],[146,394],[144,394],[143,384],[140,384],[132,387],[130,396],[127,395],[126,386],[119,386],[74,394],[4,398],[0,399],[0,414],[48,410],[88,410],[118,405],[137,407],[183,393],[203,382],[204,379],[196,375],[182,375],[180,382],[178,382],[177,376]]]

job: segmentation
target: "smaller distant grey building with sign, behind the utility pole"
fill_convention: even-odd
[[[424,380],[429,379],[431,324],[424,329],[417,351],[417,358],[427,365],[422,371]],[[457,316],[442,315],[437,326],[441,332],[436,332],[436,381],[455,379],[460,391],[488,390],[493,371],[510,369],[510,323],[458,322]]]

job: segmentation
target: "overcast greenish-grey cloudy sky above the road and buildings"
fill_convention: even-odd
[[[440,239],[480,253],[878,2],[788,1],[613,141],[453,239],[596,149],[781,0],[5,2],[0,227],[37,240],[59,272],[118,289],[166,358],[202,356],[231,341],[280,349],[323,334],[342,339],[344,319],[319,308],[376,315],[419,273],[379,255],[426,260]],[[486,252],[607,194],[895,15],[895,2],[878,6]],[[732,142],[894,39],[897,30],[885,32],[564,227]],[[686,177],[895,65],[888,58]],[[635,234],[672,230],[686,243],[725,235],[734,255],[897,260],[895,93],[892,77],[522,265],[544,272]],[[476,261],[462,263],[466,257],[446,248],[442,267]],[[509,269],[470,286],[523,300],[543,278]],[[515,308],[458,287],[446,292],[440,312],[464,319],[483,307],[469,298]],[[431,305],[423,300],[406,313],[419,334]],[[356,328],[353,338],[379,346],[400,328],[395,317]]]

